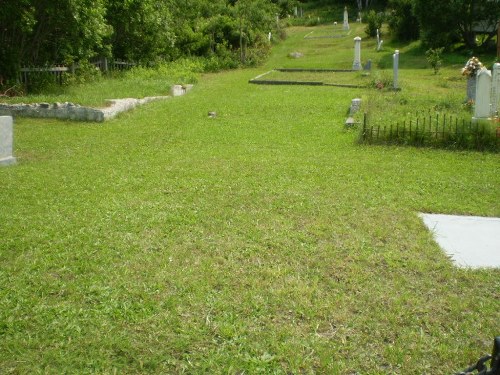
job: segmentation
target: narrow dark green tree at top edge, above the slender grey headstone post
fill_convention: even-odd
[[[420,26],[413,13],[413,0],[391,0],[389,2],[389,29],[398,40],[418,39]]]

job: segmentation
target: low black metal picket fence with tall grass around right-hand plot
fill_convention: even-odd
[[[361,142],[499,152],[500,122],[436,113],[373,125],[365,113]]]

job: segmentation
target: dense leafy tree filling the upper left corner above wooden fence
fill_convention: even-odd
[[[0,76],[21,65],[69,64],[104,47],[104,0],[2,0]]]

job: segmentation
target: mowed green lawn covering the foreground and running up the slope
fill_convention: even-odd
[[[359,89],[248,84],[307,32],[104,124],[15,120],[0,372],[449,374],[491,352],[500,271],[455,268],[417,213],[499,216],[498,155],[360,146]]]

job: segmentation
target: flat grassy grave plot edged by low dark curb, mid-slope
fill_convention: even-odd
[[[361,88],[370,82],[367,75],[352,70],[274,69],[250,80],[254,84],[310,85]]]

